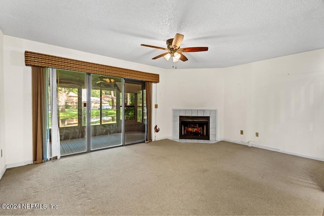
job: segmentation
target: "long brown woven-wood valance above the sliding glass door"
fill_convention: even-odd
[[[25,51],[25,65],[159,82],[159,74]]]

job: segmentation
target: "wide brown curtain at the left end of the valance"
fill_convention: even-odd
[[[32,87],[32,147],[33,163],[44,162],[46,145],[46,71],[43,67],[31,67]]]

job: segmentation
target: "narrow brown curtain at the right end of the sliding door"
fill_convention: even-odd
[[[145,143],[152,142],[152,82],[145,82],[146,91],[146,132]]]

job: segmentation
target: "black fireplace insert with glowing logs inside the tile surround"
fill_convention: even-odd
[[[179,116],[179,139],[209,140],[209,116]]]

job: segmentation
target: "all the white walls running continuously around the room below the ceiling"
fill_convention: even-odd
[[[166,70],[0,33],[0,62],[5,63],[0,67],[0,147],[5,158],[0,158],[0,170],[32,161],[31,67],[24,65],[25,50],[158,73],[152,126],[157,124],[160,132],[153,140],[172,137],[172,109],[217,109],[218,139],[252,140],[324,159],[324,50],[229,68]],[[244,135],[239,135],[241,129]]]

